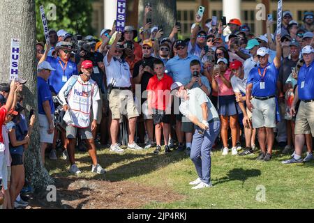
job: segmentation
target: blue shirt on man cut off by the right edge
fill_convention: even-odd
[[[299,70],[298,94],[300,100],[314,99],[314,61],[308,67],[304,64]]]

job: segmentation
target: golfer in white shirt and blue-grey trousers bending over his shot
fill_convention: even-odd
[[[220,132],[218,113],[200,88],[186,90],[180,82],[174,82],[170,90],[178,98],[184,100],[179,107],[180,112],[195,125],[190,159],[195,165],[198,175],[189,184],[192,189],[212,187],[211,185],[211,147]]]

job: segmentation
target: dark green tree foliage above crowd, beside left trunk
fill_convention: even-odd
[[[93,9],[91,2],[93,0],[36,0],[36,31],[37,40],[44,41],[43,23],[40,18],[39,7],[41,5],[45,8],[45,14],[47,17],[48,29],[64,29],[69,33],[78,33],[87,36],[93,34],[94,30],[91,27],[91,16]],[[55,7],[55,17],[54,8]],[[54,19],[55,20],[51,20]]]

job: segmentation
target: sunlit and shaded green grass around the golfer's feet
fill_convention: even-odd
[[[270,162],[256,161],[255,155],[245,157],[221,155],[214,152],[211,164],[211,181],[214,187],[191,190],[188,182],[195,180],[192,161],[183,153],[153,155],[148,151],[126,151],[124,154],[98,150],[98,162],[107,170],[105,176],[91,173],[87,153],[75,155],[80,178],[119,181],[130,180],[147,186],[162,187],[184,195],[172,203],[147,203],[142,208],[313,208],[314,162],[306,164],[281,164],[289,156],[275,150]],[[47,160],[52,176],[68,174],[66,161]],[[257,186],[266,188],[265,201],[257,201]]]

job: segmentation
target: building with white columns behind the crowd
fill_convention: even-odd
[[[158,1],[158,0],[151,0]],[[127,23],[137,27],[137,15],[138,15],[138,3],[139,0],[127,1]],[[181,22],[181,35],[190,36],[190,26],[194,22],[195,13],[199,6],[204,6],[206,12],[204,17],[211,18],[212,15],[216,15],[218,20],[225,15],[227,22],[232,17],[240,16],[242,24],[248,24],[251,26],[251,30],[255,35],[260,35],[266,32],[265,22],[257,21],[255,14],[257,12],[256,6],[258,3],[264,3],[267,6],[267,13],[273,14],[274,27],[276,27],[277,17],[277,1],[271,0],[177,0],[177,21]],[[96,35],[104,27],[109,29],[114,22],[117,10],[117,0],[96,0],[93,3],[93,22],[92,25],[95,30],[98,31]],[[293,14],[293,19],[302,23],[304,12],[314,11],[313,0],[283,0],[283,10],[290,10]],[[266,16],[267,16],[266,13]],[[272,32],[274,32],[274,27]]]

